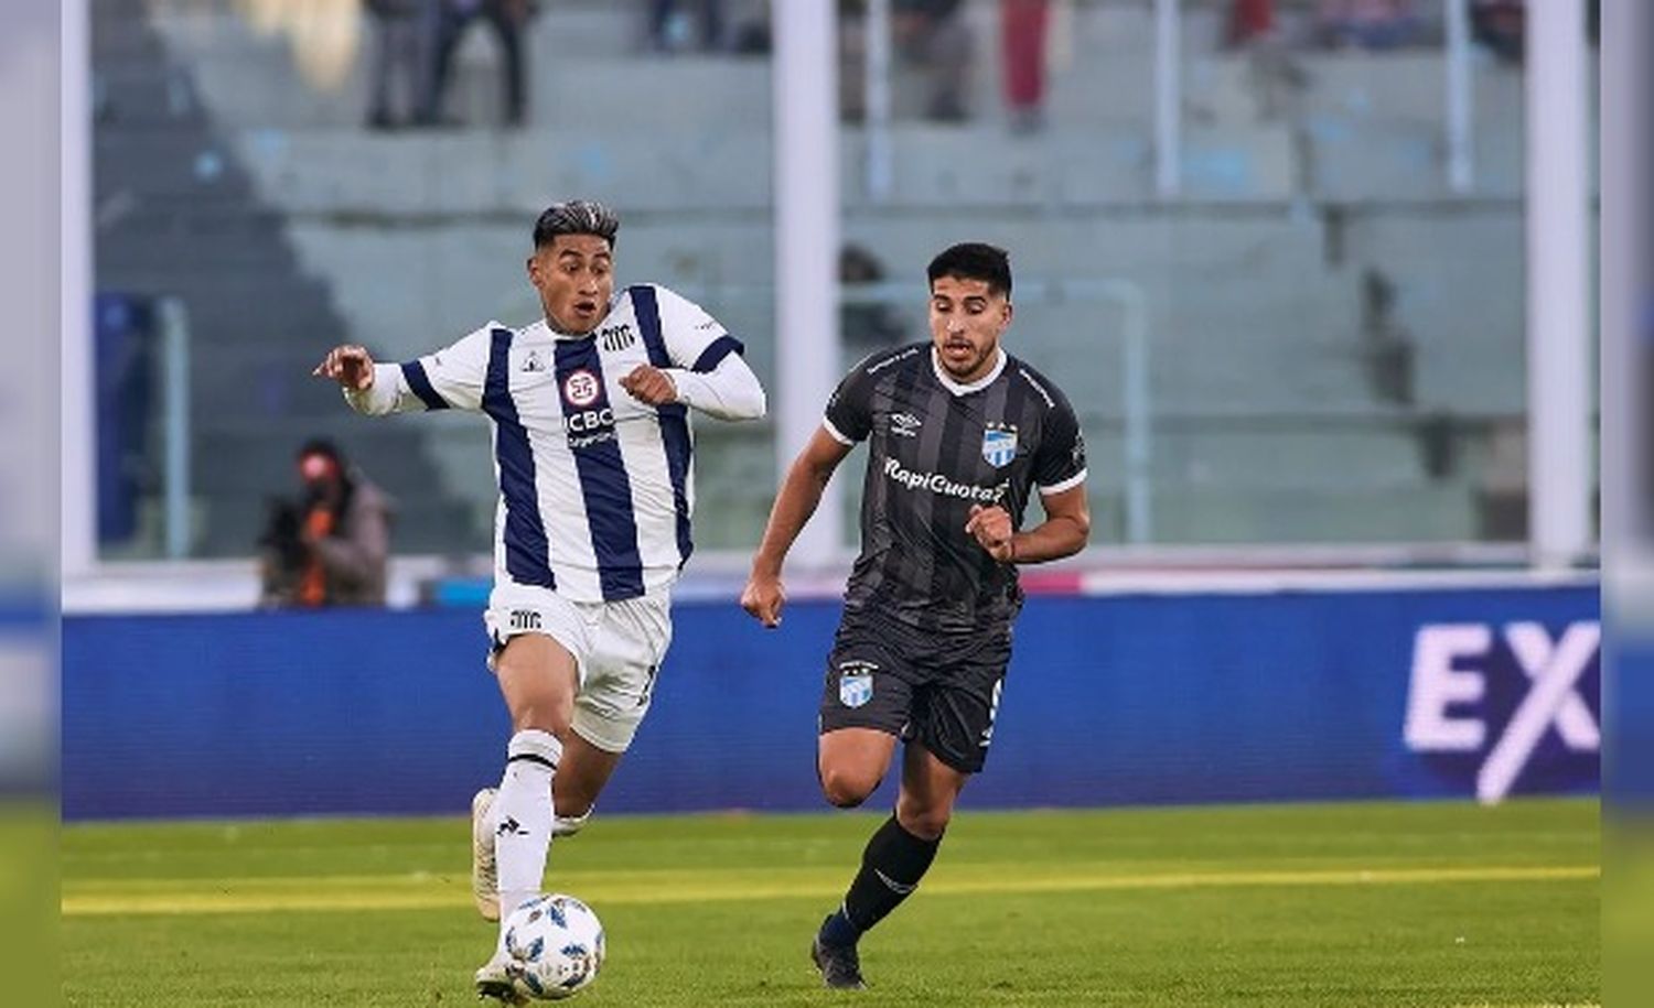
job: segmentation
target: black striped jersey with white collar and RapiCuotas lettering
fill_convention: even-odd
[[[1022,527],[1029,494],[1085,483],[1085,440],[1049,378],[999,350],[994,370],[959,385],[930,344],[862,360],[824,418],[844,445],[867,441],[862,550],[845,608],[877,608],[944,633],[1009,621],[1016,565],[966,534],[971,506],[997,504]]]

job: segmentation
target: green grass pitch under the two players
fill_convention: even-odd
[[[1598,805],[964,810],[862,944],[807,962],[880,815],[602,816],[547,887],[609,962],[577,1005],[1596,1005]],[[68,1005],[465,1005],[495,927],[468,821],[66,826]]]

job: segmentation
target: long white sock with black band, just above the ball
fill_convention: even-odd
[[[539,896],[551,849],[551,778],[562,744],[538,729],[511,735],[500,793],[488,810],[500,866],[500,924],[511,911]]]

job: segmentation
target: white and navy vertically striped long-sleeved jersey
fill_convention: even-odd
[[[764,413],[743,347],[695,302],[653,284],[620,291],[604,321],[567,335],[498,322],[400,365],[346,398],[364,413],[475,410],[493,426],[500,506],[495,578],[576,601],[635,598],[690,559],[695,506],[686,407]],[[652,364],[678,387],[650,407],[620,378]]]

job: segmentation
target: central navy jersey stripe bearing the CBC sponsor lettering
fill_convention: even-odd
[[[556,355],[564,430],[574,468],[581,474],[586,524],[597,555],[597,582],[602,585],[604,601],[637,598],[643,593],[643,554],[637,547],[632,479],[620,456],[597,340],[559,339]],[[577,390],[581,402],[569,397],[571,387]]]

